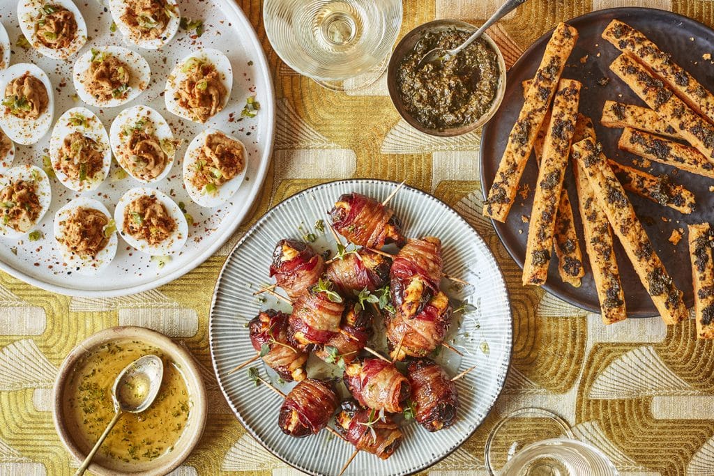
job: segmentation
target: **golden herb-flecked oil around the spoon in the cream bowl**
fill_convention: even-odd
[[[174,449],[186,427],[192,403],[178,365],[151,345],[136,340],[116,340],[91,349],[74,366],[64,390],[64,417],[70,435],[81,450],[91,450],[114,417],[111,388],[116,376],[147,354],[157,355],[164,361],[159,395],[144,412],[121,416],[100,448],[98,460],[101,457],[127,463],[154,460]],[[134,388],[118,390],[134,393],[137,398],[148,390],[148,383],[131,384]]]

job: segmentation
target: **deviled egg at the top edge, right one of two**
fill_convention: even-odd
[[[109,0],[109,9],[124,38],[144,49],[171,41],[181,21],[176,0]]]

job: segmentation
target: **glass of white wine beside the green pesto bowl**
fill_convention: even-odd
[[[268,40],[293,70],[334,91],[379,79],[402,21],[401,0],[266,0]]]

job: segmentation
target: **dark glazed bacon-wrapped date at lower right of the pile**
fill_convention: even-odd
[[[430,359],[413,360],[407,365],[407,377],[414,419],[429,431],[450,427],[458,412],[458,391],[441,365]]]

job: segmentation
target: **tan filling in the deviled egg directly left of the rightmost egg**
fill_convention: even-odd
[[[124,165],[129,168],[134,176],[144,180],[153,180],[161,175],[169,162],[169,156],[164,152],[168,143],[162,143],[154,133],[154,123],[148,117],[141,118],[134,123],[134,127],[127,126],[121,131],[125,137],[126,155]],[[173,145],[172,145],[173,146]]]

